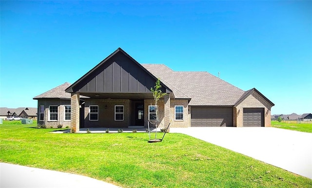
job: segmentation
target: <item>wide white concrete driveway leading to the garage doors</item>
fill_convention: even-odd
[[[312,179],[312,133],[271,127],[170,128]]]

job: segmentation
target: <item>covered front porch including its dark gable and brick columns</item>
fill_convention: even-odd
[[[118,48],[65,90],[71,93],[71,129],[147,127],[149,105],[155,105],[151,88],[157,79]],[[175,97],[161,81],[160,85],[167,95],[158,106],[163,109],[164,123],[169,124],[170,98]],[[86,96],[84,101],[80,95]]]

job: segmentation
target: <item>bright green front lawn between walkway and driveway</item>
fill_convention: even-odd
[[[312,187],[312,180],[193,137],[168,133],[51,133],[0,125],[0,161],[86,175],[124,188]],[[15,123],[15,122],[14,122]],[[70,180],[69,180],[70,181]]]

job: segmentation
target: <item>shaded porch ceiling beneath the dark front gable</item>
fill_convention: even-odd
[[[79,93],[80,95],[89,96],[90,98],[98,99],[130,99],[144,100],[153,99],[152,93]],[[170,94],[172,98],[172,94]]]

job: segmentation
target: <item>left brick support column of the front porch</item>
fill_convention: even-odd
[[[72,93],[70,104],[71,104],[71,132],[79,132],[79,94]]]

